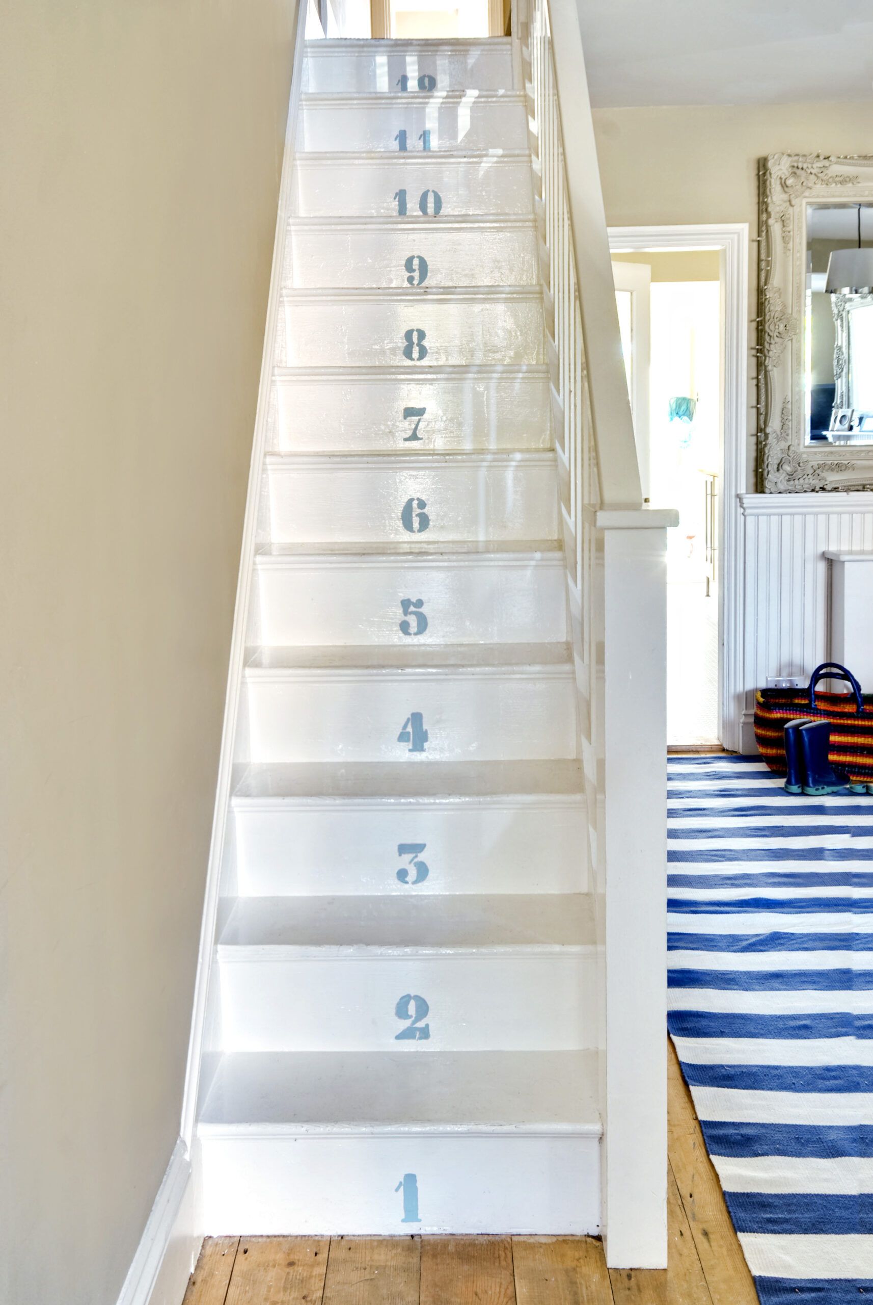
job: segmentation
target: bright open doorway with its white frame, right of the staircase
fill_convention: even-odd
[[[642,493],[667,545],[667,744],[740,749],[732,692],[744,479],[745,227],[610,232]],[[689,239],[691,236],[691,239]],[[739,365],[741,363],[741,367]]]

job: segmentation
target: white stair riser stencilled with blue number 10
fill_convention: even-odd
[[[293,211],[301,217],[397,217],[399,191],[405,191],[409,221],[421,217],[426,191],[440,197],[439,218],[533,214],[530,161],[489,155],[481,159],[438,154],[395,154],[391,158],[313,159],[294,163]],[[433,213],[433,193],[423,200]]]

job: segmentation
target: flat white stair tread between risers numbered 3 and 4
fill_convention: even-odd
[[[582,766],[554,761],[251,762],[237,767],[235,801],[263,799],[580,797]]]

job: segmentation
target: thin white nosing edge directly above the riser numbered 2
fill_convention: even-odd
[[[582,960],[597,959],[595,942],[502,942],[439,947],[388,942],[218,942],[219,964],[292,964],[298,960]]]

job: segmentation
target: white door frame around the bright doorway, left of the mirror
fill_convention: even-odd
[[[610,248],[625,251],[718,249],[724,329],[724,437],[719,502],[719,658],[718,737],[730,752],[743,750],[743,534],[748,448],[748,222],[689,223],[668,227],[610,227]]]

